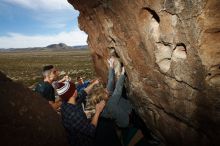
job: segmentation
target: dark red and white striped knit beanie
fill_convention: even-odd
[[[76,91],[76,86],[72,82],[61,82],[56,85],[57,94],[64,101],[68,101],[70,97],[73,96]]]

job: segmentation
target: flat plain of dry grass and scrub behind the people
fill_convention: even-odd
[[[9,78],[31,86],[42,79],[42,66],[53,64],[72,79],[94,77],[89,50],[1,52],[0,71]]]

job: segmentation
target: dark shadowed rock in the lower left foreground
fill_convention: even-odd
[[[60,116],[48,101],[1,72],[0,100],[1,145],[68,145]]]

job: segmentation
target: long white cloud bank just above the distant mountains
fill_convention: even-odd
[[[24,35],[19,33],[8,33],[0,36],[0,48],[26,48],[45,47],[50,44],[65,43],[69,46],[86,45],[87,35],[75,29],[70,32],[60,32],[55,35]]]

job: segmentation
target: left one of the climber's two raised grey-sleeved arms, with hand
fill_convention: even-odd
[[[109,72],[108,72],[108,83],[107,83],[107,90],[110,95],[112,95],[114,91],[114,77],[115,77],[115,71],[114,71],[114,59],[109,59]]]

